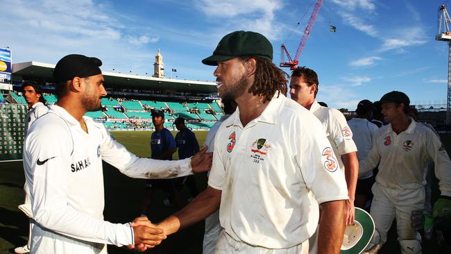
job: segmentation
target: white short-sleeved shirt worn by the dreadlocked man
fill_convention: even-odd
[[[318,226],[318,203],[348,199],[321,123],[283,95],[246,126],[239,108],[223,122],[208,184],[222,191],[226,232],[265,248],[304,242]]]

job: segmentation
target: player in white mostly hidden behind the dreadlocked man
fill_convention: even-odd
[[[213,124],[212,128],[210,128],[210,131],[207,134],[207,137],[205,138],[205,146],[208,146],[208,153],[213,153],[214,151],[214,138],[216,137],[216,133],[218,132],[219,127],[237,109],[237,103],[235,103],[235,101],[233,100],[223,99],[222,103],[224,106],[224,113],[226,113],[226,115],[223,115],[221,119]],[[208,176],[210,176],[210,172],[208,172]],[[219,210],[216,210],[216,212],[210,214],[210,216],[205,218],[205,233],[203,235],[202,248],[203,254],[214,253],[214,246],[216,246],[216,240],[218,239],[221,230],[222,228],[221,222],[219,221]]]

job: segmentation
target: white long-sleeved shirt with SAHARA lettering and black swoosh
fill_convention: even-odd
[[[31,126],[24,145],[26,184],[31,189],[31,253],[99,253],[104,244],[133,244],[127,224],[103,221],[102,160],[133,178],[171,178],[191,173],[189,160],[137,158],[103,124],[80,123],[58,105]]]

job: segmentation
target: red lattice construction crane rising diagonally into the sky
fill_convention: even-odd
[[[318,17],[319,8],[323,5],[323,0],[318,0],[315,4],[315,8],[312,12],[312,16],[309,19],[309,23],[307,24],[307,27],[305,28],[303,39],[300,40],[300,44],[298,46],[298,50],[296,50],[296,56],[294,56],[293,59],[291,59],[290,54],[288,53],[287,47],[282,44],[281,49],[281,56],[280,56],[280,67],[290,67],[291,70],[296,69],[298,66],[298,58],[300,56],[300,53],[303,52],[303,49],[305,47],[305,42],[307,42],[307,38],[310,35],[310,31],[312,31],[313,24],[316,20],[316,17]],[[288,58],[288,62],[285,62],[285,56]]]

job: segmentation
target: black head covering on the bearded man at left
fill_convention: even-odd
[[[83,55],[71,54],[61,58],[53,70],[53,79],[56,83],[70,81],[74,77],[87,78],[102,73],[99,67],[102,61],[99,58],[90,58]]]

